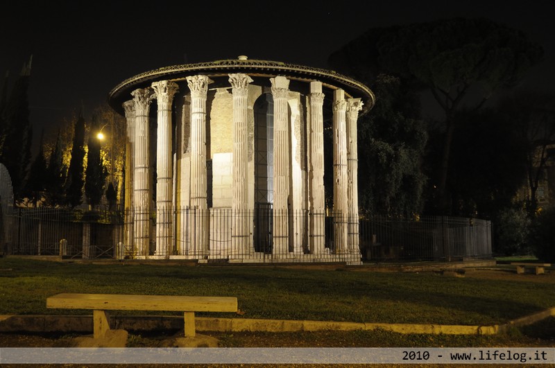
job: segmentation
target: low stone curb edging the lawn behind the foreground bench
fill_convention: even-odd
[[[298,331],[355,331],[384,330],[395,333],[422,333],[445,335],[495,335],[505,333],[515,326],[533,324],[555,316],[555,308],[514,319],[493,326],[459,326],[442,324],[386,324],[333,321],[298,321],[292,319],[250,319],[196,317],[197,331],[219,332],[298,332]],[[178,331],[182,329],[180,316],[119,315],[112,316],[114,329],[126,331]],[[92,315],[0,315],[0,332],[27,333],[91,333]]]

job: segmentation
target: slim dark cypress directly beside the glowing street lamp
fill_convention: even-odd
[[[99,121],[96,116],[93,116],[87,144],[87,169],[85,171],[85,195],[87,203],[93,209],[100,204],[108,175],[100,155],[100,141],[96,137],[98,132]]]

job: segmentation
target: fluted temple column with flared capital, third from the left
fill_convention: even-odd
[[[171,105],[178,85],[169,80],[153,82],[158,107],[156,143],[156,252],[157,256],[171,254],[173,157],[171,154]]]

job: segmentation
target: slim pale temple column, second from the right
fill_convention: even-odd
[[[334,146],[334,249],[336,254],[345,252],[347,245],[347,137],[345,126],[345,91],[334,91],[333,146]]]

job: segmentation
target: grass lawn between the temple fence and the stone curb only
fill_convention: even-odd
[[[555,306],[552,272],[539,276],[499,272],[507,277],[3,257],[0,314],[90,314],[46,309],[46,297],[59,292],[233,296],[244,315],[208,316],[382,323],[503,324]]]

